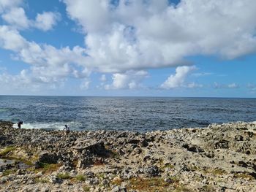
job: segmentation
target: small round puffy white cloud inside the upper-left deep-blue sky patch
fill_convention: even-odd
[[[59,13],[43,12],[42,14],[37,14],[37,18],[34,21],[34,26],[42,31],[48,31],[56,25],[58,20],[60,20]]]

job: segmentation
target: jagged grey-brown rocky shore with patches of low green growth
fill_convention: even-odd
[[[256,191],[256,123],[67,134],[1,121],[0,191]]]

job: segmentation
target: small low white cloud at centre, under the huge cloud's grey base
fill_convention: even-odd
[[[105,85],[105,89],[134,89],[142,87],[141,82],[148,77],[145,71],[129,71],[124,74],[113,74],[111,85]]]

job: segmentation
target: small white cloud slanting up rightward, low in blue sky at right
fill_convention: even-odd
[[[195,66],[178,66],[176,68],[176,74],[171,74],[160,87],[170,89],[184,86],[187,75],[195,69]],[[192,85],[190,85],[190,87],[192,87]]]

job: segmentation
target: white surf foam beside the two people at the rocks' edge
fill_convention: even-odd
[[[62,130],[65,125],[69,126],[71,130],[77,129],[78,127],[82,126],[81,123],[75,122],[75,121],[56,122],[56,123],[25,123],[23,122],[23,125],[21,125],[21,128],[26,128],[26,129],[42,128],[42,129]],[[13,127],[18,128],[18,124],[15,123]]]

